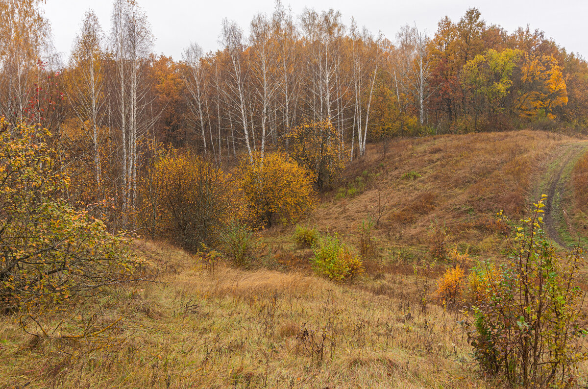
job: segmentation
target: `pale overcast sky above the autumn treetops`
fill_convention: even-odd
[[[227,17],[246,32],[253,15],[271,15],[274,0],[138,0],[146,12],[155,35],[155,52],[181,59],[190,42],[198,42],[205,51],[216,50],[220,22]],[[365,25],[373,33],[382,31],[392,39],[404,24],[414,24],[435,33],[443,16],[453,21],[476,6],[489,24],[499,24],[512,32],[518,26],[530,25],[545,31],[569,52],[588,56],[588,0],[283,0],[295,15],[305,6],[317,11],[339,9],[343,21],[349,25],[355,16],[358,25]],[[63,58],[69,51],[79,30],[83,14],[89,8],[98,15],[102,29],[110,32],[112,1],[109,0],[46,0],[45,16],[52,26],[55,48]]]

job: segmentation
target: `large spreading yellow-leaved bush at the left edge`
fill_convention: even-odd
[[[39,306],[96,296],[141,264],[123,234],[60,198],[69,177],[50,136],[0,118],[0,307],[24,309],[23,326]]]

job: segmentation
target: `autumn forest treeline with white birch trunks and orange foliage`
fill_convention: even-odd
[[[293,15],[278,1],[245,29],[224,19],[217,51],[193,42],[172,59],[153,52],[138,2],[115,0],[108,27],[86,12],[61,63],[41,2],[0,7],[1,113],[51,131],[72,176],[65,195],[83,204],[136,209],[137,185],[165,145],[217,166],[279,149],[316,170],[323,189],[335,162],[322,169],[300,142],[344,163],[396,136],[582,131],[588,120],[586,61],[539,30],[489,24],[476,8],[431,35],[405,25],[386,37],[333,9]]]

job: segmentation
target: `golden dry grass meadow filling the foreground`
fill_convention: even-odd
[[[2,317],[2,385],[74,387],[477,388],[455,313],[420,311],[414,284],[387,274],[352,285],[298,273],[212,273],[171,246],[139,243],[162,283],[109,308],[111,343],[38,341]],[[129,303],[130,301],[130,303]],[[306,331],[306,332],[305,332]],[[324,339],[323,339],[324,335]],[[115,338],[120,341],[115,341]],[[94,347],[93,347],[94,346]]]

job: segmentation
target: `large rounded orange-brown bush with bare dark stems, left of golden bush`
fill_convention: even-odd
[[[217,243],[237,209],[232,177],[193,152],[159,152],[139,187],[141,227],[192,251]]]

